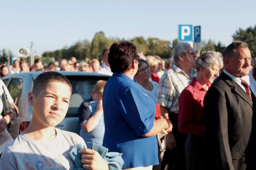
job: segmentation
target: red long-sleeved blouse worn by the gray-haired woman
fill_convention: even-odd
[[[207,84],[211,86],[210,83]],[[179,131],[182,133],[193,134],[197,136],[204,136],[205,127],[203,122],[203,98],[206,94],[201,84],[192,79],[181,93],[179,99]]]

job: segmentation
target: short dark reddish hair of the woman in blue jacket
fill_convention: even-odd
[[[108,62],[112,72],[124,72],[137,58],[139,56],[134,44],[127,41],[116,42],[110,47]]]

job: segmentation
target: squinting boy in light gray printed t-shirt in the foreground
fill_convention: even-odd
[[[0,160],[1,169],[75,169],[69,152],[81,143],[85,169],[109,169],[97,151],[87,149],[77,134],[55,128],[66,116],[72,86],[62,74],[48,71],[34,81],[28,94],[32,120],[28,128],[7,146]]]

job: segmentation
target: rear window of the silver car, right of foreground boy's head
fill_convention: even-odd
[[[83,101],[91,99],[91,90],[98,80],[70,80],[72,95],[66,117],[76,117],[77,109]]]

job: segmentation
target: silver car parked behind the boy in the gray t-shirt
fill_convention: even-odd
[[[56,127],[79,134],[80,125],[77,109],[81,103],[91,98],[91,90],[98,80],[108,80],[109,75],[87,72],[58,71],[65,75],[72,85],[72,95],[66,117]],[[28,72],[7,75],[2,78],[4,84],[19,108],[17,119],[11,121],[8,131],[15,139],[29,125],[32,117],[32,107],[28,104],[28,93],[32,91],[35,78],[42,72]]]

